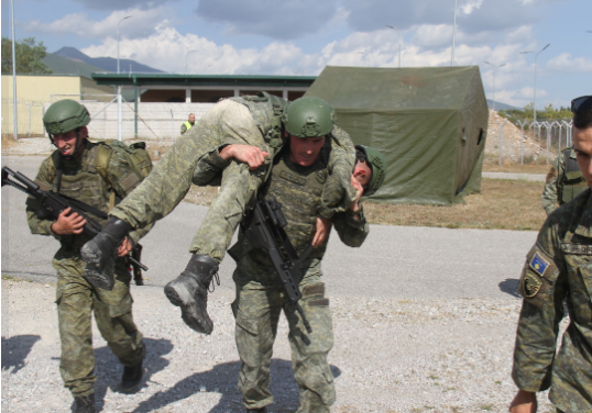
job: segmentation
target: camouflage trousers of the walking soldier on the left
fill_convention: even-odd
[[[94,392],[95,353],[91,313],[109,348],[125,366],[135,366],[145,354],[142,334],[132,319],[131,276],[122,263],[116,266],[112,291],[95,289],[84,278],[86,263],[65,248],[53,259],[57,270],[56,304],[62,341],[59,372],[76,398]]]

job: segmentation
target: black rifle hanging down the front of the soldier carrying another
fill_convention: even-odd
[[[282,204],[275,200],[265,201],[261,193],[257,193],[255,208],[246,215],[243,223],[241,223],[244,236],[251,242],[251,245],[267,253],[275,272],[277,272],[286,290],[290,304],[296,308],[303,319],[306,331],[310,334],[313,333],[313,328],[310,328],[310,324],[304,315],[303,308],[298,303],[298,300],[303,297],[298,286],[300,283],[300,264],[313,250],[313,245],[309,244],[303,254],[298,256],[284,231],[286,225],[287,221],[282,213]],[[240,247],[239,244],[237,246]],[[228,253],[237,261],[244,256],[244,254],[237,254],[238,249],[234,247]]]

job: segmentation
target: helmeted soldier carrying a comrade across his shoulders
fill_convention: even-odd
[[[314,113],[299,116],[298,103],[295,101],[285,113],[287,143],[274,158],[271,174],[260,190],[264,200],[273,199],[282,205],[288,223],[286,234],[300,255],[307,246],[315,245],[318,236],[317,209],[328,185],[330,147],[326,145],[327,129],[316,122],[318,118]],[[354,201],[346,211],[321,219],[327,234],[335,226],[340,239],[351,247],[362,245],[369,233],[360,199],[380,188],[386,169],[379,150],[361,145],[355,145],[355,150],[357,163],[350,178],[357,191]],[[237,248],[233,257],[238,259],[232,311],[241,358],[239,389],[246,412],[264,413],[273,403],[268,390],[270,365],[282,311],[289,326],[294,378],[300,389],[297,413],[326,413],[335,402],[333,375],[327,362],[333,345],[332,321],[321,271],[327,243],[325,237],[300,267],[300,303],[311,327],[311,333],[307,333],[266,253],[251,246],[242,228],[239,232],[237,246],[232,248]]]

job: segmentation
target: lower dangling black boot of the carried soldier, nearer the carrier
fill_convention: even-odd
[[[211,334],[213,323],[208,315],[208,288],[213,276],[218,284],[218,263],[207,255],[194,254],[185,271],[164,288],[173,305],[180,306],[185,324],[198,333]]]

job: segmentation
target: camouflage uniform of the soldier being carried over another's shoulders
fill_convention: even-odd
[[[275,97],[271,99],[232,98],[217,103],[177,138],[134,193],[110,214],[132,227],[154,223],[173,211],[191,182],[217,183],[211,179],[220,168],[224,168],[220,191],[189,247],[190,253],[208,255],[220,263],[245,209],[254,202],[270,163],[250,171],[246,164],[224,161],[219,149],[227,144],[248,144],[270,153],[271,157],[275,156],[283,145],[278,115],[287,101]],[[344,211],[355,196],[350,185],[355,155],[351,138],[335,127],[328,141],[332,148],[330,177],[319,206],[319,213],[326,217]],[[196,170],[199,160],[206,166],[205,170]]]

